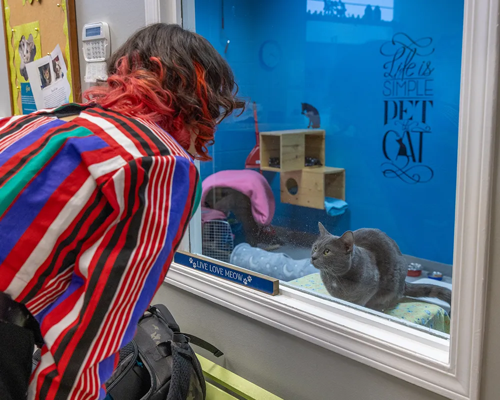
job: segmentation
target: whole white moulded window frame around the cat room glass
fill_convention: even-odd
[[[161,20],[195,30],[194,0],[161,3],[168,10]],[[499,11],[496,0],[464,0],[451,304],[455,317],[450,340],[289,287],[281,286],[280,295],[268,296],[175,263],[165,282],[445,397],[478,400]],[[181,249],[200,252],[200,235],[198,210]]]

